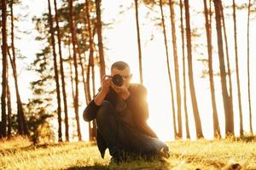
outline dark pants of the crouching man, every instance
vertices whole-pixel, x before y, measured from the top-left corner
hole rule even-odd
[[[135,127],[121,122],[119,112],[106,100],[96,114],[96,123],[113,157],[124,156],[124,152],[148,157],[159,154],[161,149],[168,150],[166,144],[159,139],[140,133]]]

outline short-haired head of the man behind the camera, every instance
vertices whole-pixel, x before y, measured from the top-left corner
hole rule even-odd
[[[123,77],[126,88],[129,88],[132,74],[130,66],[124,61],[116,61],[111,65],[111,76],[119,74]]]

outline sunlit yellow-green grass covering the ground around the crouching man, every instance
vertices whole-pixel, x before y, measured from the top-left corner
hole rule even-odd
[[[170,158],[132,161],[119,165],[110,161],[108,151],[101,158],[96,144],[72,142],[32,145],[17,138],[0,141],[0,169],[256,169],[256,140],[205,140],[166,143]]]

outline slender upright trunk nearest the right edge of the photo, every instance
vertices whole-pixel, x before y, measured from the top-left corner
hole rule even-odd
[[[252,122],[252,104],[251,104],[251,82],[250,82],[250,14],[251,14],[251,0],[248,4],[248,17],[247,17],[247,77],[248,77],[248,103],[249,103],[249,120],[250,120],[250,133],[253,134]]]

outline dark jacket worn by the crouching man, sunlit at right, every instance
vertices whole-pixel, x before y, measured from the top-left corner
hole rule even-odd
[[[148,103],[147,103],[147,89],[141,84],[131,84],[129,87],[130,96],[125,99],[127,107],[131,111],[131,116],[135,127],[139,132],[142,132],[148,136],[157,138],[154,131],[148,127]],[[113,107],[117,104],[117,94],[111,88],[105,98]],[[94,100],[91,100],[89,105],[84,110],[84,121],[90,122],[96,118],[96,113],[100,106],[96,105]],[[97,145],[101,152],[102,158],[104,157],[105,150],[108,148],[106,142],[102,138],[101,133],[97,133]]]

